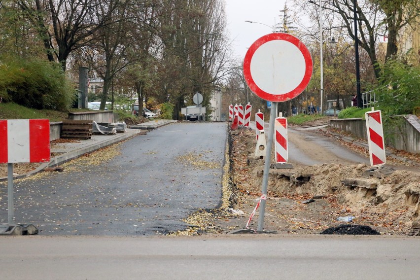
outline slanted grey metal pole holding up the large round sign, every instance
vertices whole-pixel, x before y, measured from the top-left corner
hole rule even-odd
[[[271,147],[273,146],[273,136],[274,136],[274,123],[276,121],[276,112],[277,112],[277,102],[273,102],[270,109],[270,122],[268,125],[268,139],[267,139],[267,153],[265,156],[264,163],[264,174],[261,187],[261,195],[267,196],[267,185],[268,185],[268,175],[270,172],[271,165]],[[263,230],[264,226],[264,212],[265,212],[266,200],[262,199],[260,203],[260,215],[258,217],[258,231]]]

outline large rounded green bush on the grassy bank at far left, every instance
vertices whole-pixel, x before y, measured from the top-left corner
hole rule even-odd
[[[74,89],[59,64],[40,59],[0,57],[0,97],[29,108],[66,110]]]

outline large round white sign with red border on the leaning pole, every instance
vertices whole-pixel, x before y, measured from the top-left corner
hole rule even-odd
[[[301,94],[311,80],[312,70],[307,47],[285,33],[262,36],[245,54],[245,81],[267,101],[284,102]]]

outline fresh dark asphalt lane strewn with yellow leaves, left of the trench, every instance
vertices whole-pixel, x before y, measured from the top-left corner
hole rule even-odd
[[[15,222],[34,224],[39,235],[183,230],[183,218],[221,201],[226,137],[226,123],[171,124],[121,142],[121,154],[98,165],[76,161],[67,167],[74,171],[15,180]],[[7,221],[5,200],[0,221]]]

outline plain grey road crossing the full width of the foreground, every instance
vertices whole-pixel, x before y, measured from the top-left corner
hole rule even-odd
[[[0,279],[417,280],[416,237],[0,238]]]

